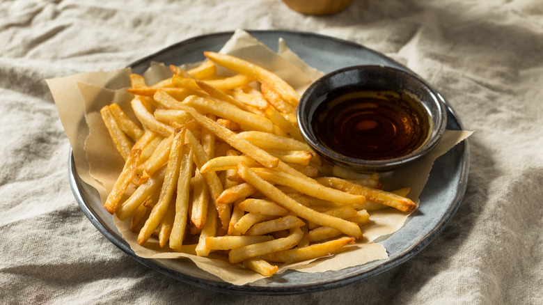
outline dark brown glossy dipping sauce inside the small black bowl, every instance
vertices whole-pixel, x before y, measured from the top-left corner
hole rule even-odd
[[[311,120],[324,146],[347,157],[382,160],[414,152],[431,123],[420,103],[393,92],[355,92],[322,102]]]

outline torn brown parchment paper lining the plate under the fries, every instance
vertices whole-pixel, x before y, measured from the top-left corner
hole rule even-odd
[[[315,79],[322,76],[322,72],[310,68],[304,61],[301,61],[282,39],[279,40],[278,53],[275,53],[250,36],[249,33],[238,30],[220,52],[244,58],[275,72],[288,81],[299,93],[303,93]],[[113,187],[118,173],[123,168],[124,161],[118,155],[107,129],[102,123],[100,109],[104,105],[114,102],[120,104],[120,107],[136,121],[129,105],[133,96],[126,91],[126,88],[130,86],[130,73],[131,70],[125,68],[47,80],[65,133],[72,146],[77,173],[88,185],[97,189],[102,204]],[[228,71],[219,69],[218,73],[226,74]],[[152,63],[144,74],[148,84],[154,84],[169,76],[171,76],[171,72],[162,63]],[[418,196],[430,175],[434,160],[470,134],[471,132],[466,131],[447,130],[439,145],[425,159],[395,171],[393,175],[387,175],[383,181],[386,189],[411,187],[409,198],[418,205]],[[409,181],[409,185],[404,185],[405,181]],[[288,269],[296,269],[299,272],[339,270],[386,259],[388,258],[386,249],[381,244],[372,241],[399,230],[408,216],[409,214],[393,208],[370,212],[372,224],[363,227],[364,238],[350,246],[352,249],[311,262],[280,265],[278,274]],[[188,258],[203,271],[235,285],[244,285],[264,277],[245,269],[241,264],[231,265],[219,256],[214,258],[213,253],[210,257],[178,253],[167,247],[161,249],[155,240],[151,240],[145,244],[145,247],[142,247],[136,242],[137,234],[129,230],[128,220],[120,221],[114,217],[114,221],[136,255],[143,258],[174,259],[171,264],[168,262],[168,266],[178,272],[182,272],[183,262],[175,259]]]

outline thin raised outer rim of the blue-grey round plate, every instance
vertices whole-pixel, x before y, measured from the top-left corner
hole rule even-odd
[[[283,30],[246,30],[249,34],[253,33],[260,33],[260,34],[275,34],[278,36],[281,36],[282,33],[287,33],[288,35],[302,35],[302,36],[313,36],[313,38],[320,38],[324,40],[334,40],[341,44],[348,44],[352,45],[353,47],[364,49],[366,52],[370,52],[376,56],[379,56],[381,58],[384,58],[388,62],[393,62],[397,65],[402,66],[402,68],[405,68],[406,70],[409,70],[409,68],[405,67],[401,63],[398,63],[397,61],[394,61],[392,58],[389,58],[388,56],[385,56],[384,54],[381,54],[375,50],[369,49],[368,47],[365,47],[359,43],[352,42],[349,40],[343,40],[341,38],[335,38],[331,36],[326,36],[320,33],[313,33],[308,31],[283,31]],[[200,36],[194,36],[185,40],[181,40],[180,42],[176,42],[173,45],[170,45],[168,47],[165,47],[164,49],[161,49],[157,52],[154,52],[148,56],[145,56],[143,58],[140,58],[136,61],[133,61],[128,65],[128,67],[134,67],[135,65],[141,65],[145,63],[146,61],[150,62],[152,61],[152,58],[159,56],[160,54],[163,54],[164,52],[168,52],[172,49],[181,47],[183,45],[189,45],[192,42],[196,42],[196,40],[203,40],[203,39],[210,39],[217,36],[232,36],[233,31],[221,31],[221,32],[214,32],[214,33],[207,33]],[[413,71],[409,70],[411,73],[414,73]],[[415,73],[414,73],[415,74]],[[416,74],[415,74],[416,75]],[[418,75],[417,75],[418,76]],[[447,100],[439,93],[439,91],[435,91],[438,93],[439,98],[446,104],[448,112],[450,112],[450,115],[453,116],[455,119],[457,125],[459,126],[459,130],[464,130],[464,127],[462,125],[461,120],[457,116],[455,110],[451,105],[447,102]],[[393,269],[393,267],[397,267],[398,265],[401,265],[405,261],[409,260],[413,256],[415,256],[417,253],[419,253],[422,249],[427,247],[428,244],[430,244],[436,237],[443,231],[444,228],[446,228],[448,222],[450,219],[452,219],[459,208],[460,203],[462,203],[462,198],[464,197],[466,186],[467,186],[467,178],[469,173],[469,164],[470,164],[470,154],[469,154],[469,141],[466,139],[462,143],[459,143],[458,145],[464,145],[464,152],[462,155],[462,170],[460,171],[460,180],[459,180],[459,188],[457,193],[455,194],[455,198],[453,202],[450,204],[448,209],[446,210],[446,214],[444,214],[441,219],[439,219],[439,222],[436,224],[436,226],[430,230],[426,235],[423,237],[420,237],[418,242],[414,244],[409,249],[403,251],[400,255],[395,256],[394,258],[388,258],[384,263],[375,265],[371,267],[370,269],[366,269],[364,272],[359,274],[353,274],[351,276],[346,276],[341,279],[334,279],[332,281],[326,281],[325,283],[321,284],[307,284],[306,286],[288,286],[288,287],[282,287],[282,286],[253,286],[250,283],[243,286],[237,286],[231,283],[227,283],[224,281],[212,281],[209,279],[201,279],[196,276],[191,276],[189,274],[183,274],[181,272],[177,272],[172,269],[168,269],[162,265],[159,265],[155,263],[154,259],[148,259],[148,258],[141,258],[139,256],[136,256],[134,251],[130,249],[129,245],[125,240],[118,240],[113,234],[109,232],[109,230],[102,224],[100,219],[98,219],[97,215],[95,215],[90,208],[86,205],[84,198],[82,196],[81,191],[81,185],[80,183],[82,181],[78,181],[77,176],[77,169],[75,169],[74,159],[73,159],[73,152],[72,147],[70,146],[69,150],[69,157],[68,157],[68,175],[70,179],[70,187],[72,188],[72,192],[74,194],[74,197],[81,208],[81,210],[84,212],[86,217],[91,221],[91,223],[97,228],[97,230],[102,233],[107,239],[115,244],[119,249],[123,250],[125,253],[127,253],[129,256],[132,256],[132,258],[136,259],[139,263],[142,265],[145,265],[146,267],[149,267],[150,269],[154,269],[157,272],[160,272],[162,274],[165,274],[166,276],[173,277],[174,279],[177,279],[179,281],[182,281],[184,283],[188,283],[194,286],[198,286],[200,288],[204,289],[212,289],[212,290],[218,290],[220,292],[226,292],[230,294],[242,294],[242,295],[297,295],[297,294],[303,294],[303,293],[310,293],[310,292],[318,292],[323,290],[329,290],[333,288],[340,288],[343,286],[347,286],[349,284],[355,283],[357,281],[362,281],[365,279],[370,279],[372,276],[376,276],[377,274],[381,274],[383,272],[387,272],[390,269]]]

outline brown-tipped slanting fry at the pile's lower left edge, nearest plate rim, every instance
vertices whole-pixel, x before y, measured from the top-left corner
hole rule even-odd
[[[113,185],[113,189],[111,189],[111,191],[109,192],[106,202],[104,203],[104,208],[110,214],[115,213],[115,211],[117,210],[120,199],[123,198],[126,189],[130,185],[132,178],[136,174],[138,158],[140,154],[141,150],[139,149],[134,149],[130,151],[128,158],[125,162],[125,166],[123,167],[123,171],[120,172],[120,175],[118,176],[115,184]]]

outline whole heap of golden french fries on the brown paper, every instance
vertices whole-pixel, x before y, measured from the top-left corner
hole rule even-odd
[[[101,109],[123,171],[104,203],[145,247],[228,256],[264,276],[278,263],[331,256],[363,237],[373,210],[411,212],[408,188],[333,166],[297,126],[299,94],[269,70],[205,52],[207,61],[149,86],[130,76],[134,122]],[[217,76],[217,65],[233,76]],[[124,198],[124,199],[123,199]],[[274,265],[275,264],[275,265]]]

